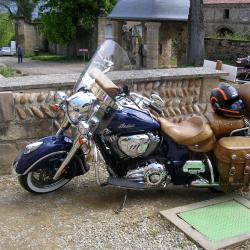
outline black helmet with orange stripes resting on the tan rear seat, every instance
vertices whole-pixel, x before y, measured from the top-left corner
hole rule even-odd
[[[210,102],[218,114],[234,118],[239,118],[243,114],[244,104],[239,98],[238,91],[226,83],[220,83],[212,90]]]

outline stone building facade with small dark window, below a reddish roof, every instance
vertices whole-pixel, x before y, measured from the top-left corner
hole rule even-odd
[[[204,0],[206,36],[250,32],[250,0]]]

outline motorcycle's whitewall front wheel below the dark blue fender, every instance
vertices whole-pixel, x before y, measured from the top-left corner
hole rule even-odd
[[[24,189],[31,193],[45,194],[63,187],[70,181],[70,179],[65,177],[53,180],[54,174],[54,171],[50,169],[38,169],[19,176],[18,181]]]

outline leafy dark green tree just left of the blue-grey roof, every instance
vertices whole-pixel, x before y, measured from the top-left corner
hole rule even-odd
[[[48,41],[67,45],[69,48],[80,32],[94,34],[97,17],[107,14],[115,2],[116,0],[42,0],[39,11],[41,32]]]

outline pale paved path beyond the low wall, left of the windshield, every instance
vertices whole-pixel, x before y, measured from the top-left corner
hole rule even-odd
[[[45,62],[29,58],[24,58],[23,63],[18,63],[16,57],[0,57],[0,63],[28,75],[80,73],[84,67],[83,62]]]

